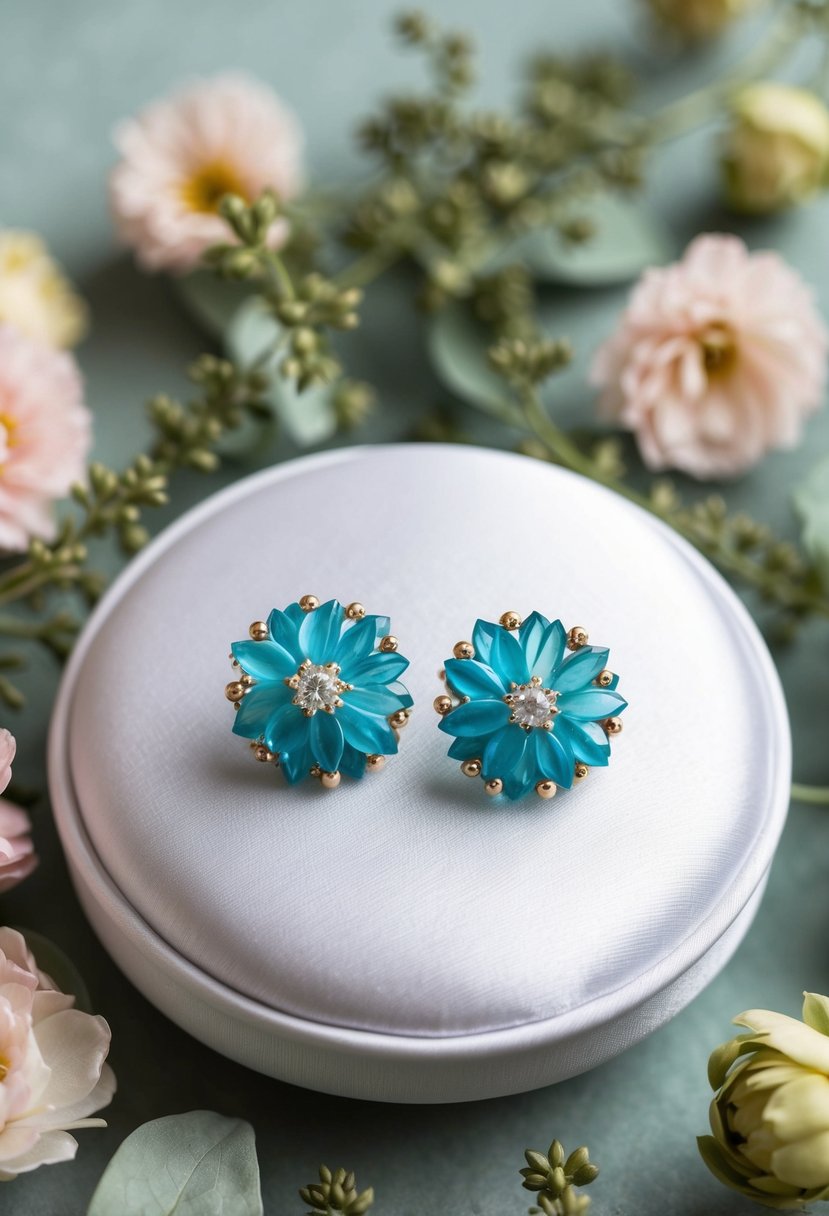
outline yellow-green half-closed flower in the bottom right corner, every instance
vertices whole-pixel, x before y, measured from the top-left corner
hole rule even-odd
[[[829,997],[807,992],[803,1020],[750,1009],[748,1026],[709,1062],[717,1091],[703,1160],[726,1186],[767,1207],[829,1199]],[[743,1057],[746,1057],[745,1059]]]

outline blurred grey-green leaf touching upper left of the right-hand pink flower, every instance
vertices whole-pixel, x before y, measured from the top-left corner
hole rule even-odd
[[[536,278],[551,283],[609,287],[672,257],[672,242],[638,202],[596,195],[573,214],[594,226],[587,241],[565,241],[557,231],[538,229],[507,246],[497,264],[523,261]]]

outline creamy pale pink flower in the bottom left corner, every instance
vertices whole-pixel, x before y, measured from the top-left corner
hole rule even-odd
[[[38,970],[22,935],[0,929],[0,1180],[68,1161],[69,1131],[103,1127],[90,1119],[115,1092],[105,1063],[109,1028],[74,1009]]]

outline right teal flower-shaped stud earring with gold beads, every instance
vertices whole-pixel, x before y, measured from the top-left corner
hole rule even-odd
[[[608,659],[580,625],[568,632],[537,612],[524,621],[514,612],[497,625],[478,620],[472,642],[458,642],[440,672],[446,693],[434,706],[439,728],[455,736],[449,755],[494,796],[570,789],[608,764],[622,728],[627,702]]]

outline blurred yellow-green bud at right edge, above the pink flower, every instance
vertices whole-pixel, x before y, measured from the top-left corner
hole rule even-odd
[[[829,109],[807,89],[766,80],[733,103],[723,169],[732,207],[757,214],[802,203],[827,182]]]

